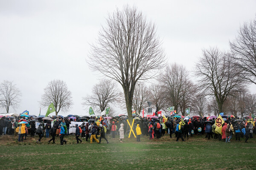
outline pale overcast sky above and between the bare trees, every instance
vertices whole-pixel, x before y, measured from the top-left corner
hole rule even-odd
[[[20,107],[10,112],[38,115],[44,88],[61,79],[73,96],[69,113],[88,114],[81,99],[99,81],[85,61],[89,43],[105,26],[108,12],[126,4],[156,23],[169,62],[189,71],[202,48],[229,50],[240,24],[256,17],[255,0],[0,0],[0,82],[13,81],[22,92]]]

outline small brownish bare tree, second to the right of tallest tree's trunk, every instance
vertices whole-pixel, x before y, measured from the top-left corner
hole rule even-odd
[[[151,84],[150,86],[150,100],[152,101],[152,105],[156,107],[155,113],[157,111],[163,110],[166,111],[167,109],[167,100],[164,91],[164,87],[160,84]]]

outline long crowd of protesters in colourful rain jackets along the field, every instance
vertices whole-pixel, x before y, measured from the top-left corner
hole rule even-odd
[[[86,119],[68,119],[67,117],[52,116],[51,120],[35,119],[34,117],[25,118],[24,116],[15,116],[14,119],[3,116],[0,119],[0,135],[14,135],[18,136],[18,142],[23,142],[28,136],[31,138],[38,135],[37,143],[41,142],[43,137],[47,138],[50,142],[55,143],[55,137],[60,138],[60,143],[63,145],[67,143],[64,139],[65,136],[69,136],[69,129],[71,121],[82,122],[81,125],[76,124],[76,132],[73,134],[76,136],[76,142],[90,141],[90,143],[101,143],[102,139],[105,139],[107,143],[108,139],[106,135],[111,135],[115,138],[119,135],[120,142],[123,142],[125,132],[130,130],[130,126],[127,123],[127,117],[115,116],[113,119],[107,119],[104,117],[91,116]],[[168,135],[170,138],[176,138],[178,142],[180,139],[185,142],[189,137],[193,135],[206,135],[207,139],[218,139],[224,142],[230,142],[230,139],[235,136],[236,142],[240,142],[244,138],[245,142],[249,138],[253,138],[253,133],[256,134],[255,119],[239,119],[239,117],[230,117],[225,119],[225,123],[222,125],[221,133],[218,133],[215,128],[215,118],[202,118],[199,116],[183,119],[177,117],[161,116],[159,118],[152,117],[137,117],[134,120],[133,130],[137,136],[137,142],[140,142],[140,136],[149,136],[148,139],[160,139],[164,135]],[[26,123],[19,124],[20,121]],[[41,122],[38,128],[35,126],[35,122]],[[79,136],[81,135],[81,139]],[[99,138],[99,139],[98,139]]]

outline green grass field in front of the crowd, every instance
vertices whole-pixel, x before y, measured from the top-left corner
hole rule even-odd
[[[17,137],[0,137],[0,169],[256,169],[256,140],[249,139],[249,143],[220,142],[216,139],[209,141],[204,136],[194,136],[186,142],[175,142],[169,136],[161,139],[149,140],[141,137],[124,139],[119,142],[119,136],[112,139],[107,136],[109,144],[76,144],[75,136],[68,136],[67,144],[60,145],[56,137],[56,144],[48,144],[43,138],[41,144],[35,139],[17,142]]]

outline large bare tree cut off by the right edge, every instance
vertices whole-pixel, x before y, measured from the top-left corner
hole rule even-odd
[[[240,27],[238,37],[230,42],[231,51],[235,54],[234,63],[246,81],[256,84],[256,19]]]

